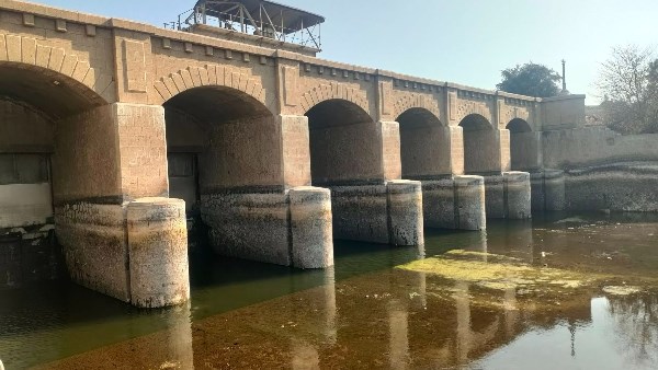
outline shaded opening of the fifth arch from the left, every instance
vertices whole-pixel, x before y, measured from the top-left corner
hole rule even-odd
[[[481,115],[470,114],[460,126],[464,129],[464,171],[467,174],[500,172],[500,142],[491,123]]]

